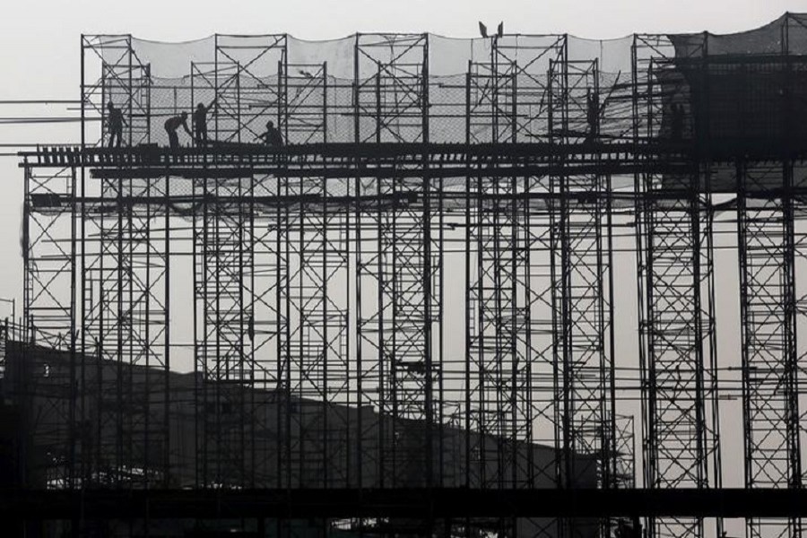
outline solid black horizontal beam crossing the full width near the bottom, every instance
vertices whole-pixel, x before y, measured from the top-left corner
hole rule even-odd
[[[151,517],[807,516],[807,490],[3,490],[7,520]]]

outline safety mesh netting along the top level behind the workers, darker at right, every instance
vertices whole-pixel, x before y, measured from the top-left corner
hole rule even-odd
[[[216,143],[260,143],[270,121],[293,144],[582,143],[590,96],[604,142],[638,135],[719,152],[798,146],[807,134],[807,18],[792,13],[731,35],[117,36],[91,49],[102,68],[85,101],[102,122],[105,103],[124,109],[131,145],[167,145],[165,121],[183,112],[194,130],[199,103],[213,104]]]

